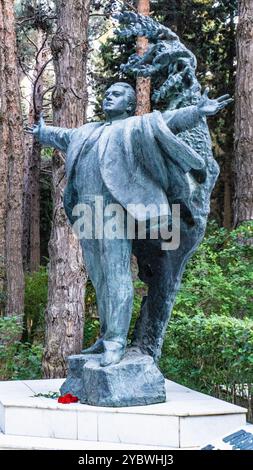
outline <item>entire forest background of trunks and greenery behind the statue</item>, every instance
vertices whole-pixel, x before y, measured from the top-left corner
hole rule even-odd
[[[205,240],[189,262],[160,367],[166,377],[249,407],[253,395],[253,5],[251,0],[0,0],[0,379],[63,377],[99,333],[94,289],[62,207],[64,156],[24,132],[101,120],[106,87],[127,80],[138,112],[148,80],[120,64],[133,39],[112,13],[151,14],[196,55],[197,77],[234,104],[209,120],[220,177]],[[139,41],[137,50],[145,48]],[[145,286],[135,280],[135,321]],[[131,335],[131,331],[130,331]]]

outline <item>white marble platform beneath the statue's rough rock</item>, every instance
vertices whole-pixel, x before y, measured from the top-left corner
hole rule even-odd
[[[62,405],[57,400],[34,397],[37,393],[58,391],[62,383],[63,379],[0,382],[2,433],[92,441],[100,443],[100,448],[111,442],[142,448],[189,449],[246,424],[246,409],[171,381],[166,381],[166,403],[141,407]]]

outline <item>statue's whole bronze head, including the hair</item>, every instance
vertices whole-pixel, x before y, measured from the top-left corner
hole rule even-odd
[[[136,94],[131,85],[118,82],[105,92],[103,110],[109,119],[118,116],[133,116],[136,108]]]

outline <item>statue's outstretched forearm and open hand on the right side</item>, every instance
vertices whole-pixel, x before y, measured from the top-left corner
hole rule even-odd
[[[203,117],[214,116],[233,101],[229,95],[210,100],[208,92],[209,89],[206,88],[196,106],[187,106],[186,108],[163,113],[167,125],[174,134],[196,127]]]

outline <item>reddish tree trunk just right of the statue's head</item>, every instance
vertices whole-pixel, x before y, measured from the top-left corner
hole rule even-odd
[[[138,0],[138,13],[148,16],[150,14],[150,0]],[[144,55],[148,48],[148,39],[139,37],[137,39],[137,54]],[[136,115],[141,116],[150,113],[150,78],[138,77],[136,82],[137,108]]]

